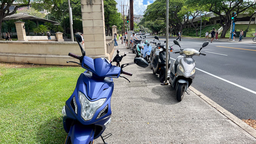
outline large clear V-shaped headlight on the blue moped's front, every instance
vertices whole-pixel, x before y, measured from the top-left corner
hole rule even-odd
[[[86,96],[79,91],[79,102],[81,104],[81,117],[88,121],[92,119],[92,117],[95,115],[95,112],[100,108],[104,102],[106,101],[106,98],[99,99],[97,101],[89,101]]]

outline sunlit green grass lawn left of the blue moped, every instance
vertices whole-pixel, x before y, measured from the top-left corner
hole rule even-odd
[[[81,67],[6,67],[0,63],[0,143],[63,144],[61,110]]]

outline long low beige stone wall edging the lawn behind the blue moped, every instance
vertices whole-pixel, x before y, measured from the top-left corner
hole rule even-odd
[[[77,65],[67,63],[67,61],[79,62],[68,56],[69,53],[81,55],[77,42],[0,41],[0,62]],[[93,55],[87,56],[96,58]]]

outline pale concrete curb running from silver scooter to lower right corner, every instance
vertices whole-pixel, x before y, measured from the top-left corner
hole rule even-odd
[[[200,91],[196,90],[194,87],[190,86],[189,89],[193,91],[195,94],[197,94],[200,98],[202,98],[204,101],[206,101],[209,105],[214,107],[216,110],[220,111],[223,115],[225,115],[228,119],[230,119],[232,122],[237,124],[240,128],[245,130],[247,133],[249,133],[251,136],[256,138],[256,130],[253,129],[250,125],[246,124],[243,122],[241,119],[237,118],[235,115],[227,111],[225,108],[221,107],[219,104],[216,102],[212,101],[210,98],[205,96],[203,93]]]

